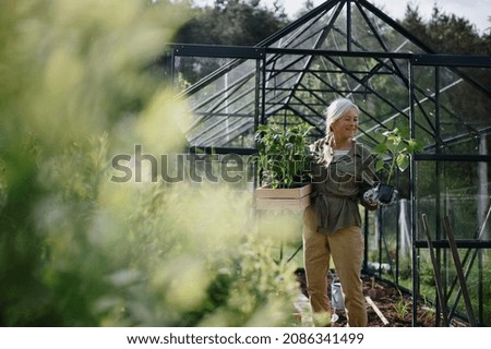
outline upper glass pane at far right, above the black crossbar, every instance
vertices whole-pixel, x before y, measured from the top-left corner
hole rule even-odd
[[[427,153],[440,143],[443,154],[489,154],[491,69],[416,67],[415,82],[416,137]]]

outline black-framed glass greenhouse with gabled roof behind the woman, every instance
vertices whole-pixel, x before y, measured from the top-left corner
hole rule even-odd
[[[369,147],[384,130],[416,140],[396,176],[400,200],[364,213],[363,272],[428,300],[445,314],[438,326],[491,325],[489,57],[435,52],[366,0],[325,1],[253,47],[175,44],[167,55],[192,108],[191,153],[253,157],[266,123],[323,137],[340,96],[359,106]]]

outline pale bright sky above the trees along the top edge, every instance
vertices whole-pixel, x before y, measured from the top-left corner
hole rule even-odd
[[[279,0],[282,1],[282,0]],[[313,0],[314,7],[323,3],[325,0]],[[488,20],[491,16],[491,0],[369,0],[373,4],[383,9],[384,12],[393,19],[404,17],[406,4],[408,2],[418,5],[419,13],[423,20],[431,16],[433,4],[436,3],[439,9],[448,14],[456,14],[463,16],[476,28],[480,34],[491,33],[491,22]],[[213,3],[213,0],[197,0],[196,3]],[[274,0],[261,0],[266,5],[272,5]],[[285,11],[289,17],[294,19],[295,14],[302,8],[304,0],[283,0]]]

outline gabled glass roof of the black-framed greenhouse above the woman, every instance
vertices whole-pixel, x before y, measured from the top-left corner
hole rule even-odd
[[[322,137],[324,110],[342,96],[359,106],[369,145],[374,131],[397,127],[430,153],[468,154],[476,147],[459,144],[491,127],[490,59],[436,55],[367,0],[325,1],[254,47],[171,48],[175,77],[188,69],[195,81],[181,94],[194,118],[190,146],[253,152],[267,122],[307,122]]]

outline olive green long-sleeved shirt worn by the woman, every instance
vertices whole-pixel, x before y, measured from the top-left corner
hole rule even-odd
[[[374,157],[363,145],[355,142],[348,154],[334,156],[331,164],[326,165],[324,147],[330,147],[325,139],[311,146],[311,198],[318,231],[328,234],[346,227],[361,227],[358,204],[369,209],[376,208],[362,200],[363,193],[375,182]]]

